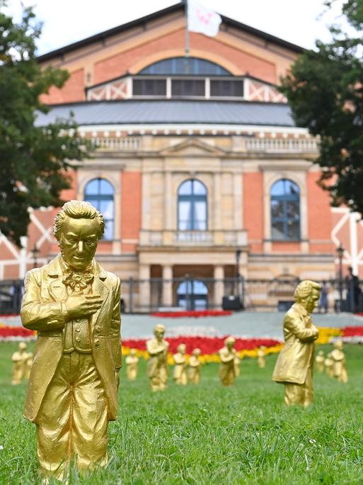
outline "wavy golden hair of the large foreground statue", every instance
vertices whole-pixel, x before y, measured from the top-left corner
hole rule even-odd
[[[54,218],[53,232],[57,240],[59,240],[62,235],[66,216],[73,219],[97,219],[98,239],[103,237],[103,233],[105,232],[105,220],[100,211],[98,211],[96,207],[93,207],[89,202],[69,201],[64,204],[62,210],[59,211]]]

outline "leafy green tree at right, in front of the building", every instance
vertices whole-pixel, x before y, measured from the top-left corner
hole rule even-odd
[[[316,41],[316,50],[304,52],[281,91],[296,125],[319,137],[318,184],[330,192],[332,205],[363,213],[363,0],[346,0],[342,14],[354,35],[331,26],[330,43]]]

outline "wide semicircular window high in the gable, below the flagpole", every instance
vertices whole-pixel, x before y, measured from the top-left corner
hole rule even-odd
[[[144,67],[139,74],[191,74],[192,76],[230,76],[231,73],[214,62],[199,57],[171,57]]]

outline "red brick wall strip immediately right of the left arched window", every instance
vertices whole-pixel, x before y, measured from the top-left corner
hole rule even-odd
[[[121,238],[139,239],[142,214],[142,174],[122,172],[121,174]],[[134,252],[136,244],[122,244],[122,251]]]

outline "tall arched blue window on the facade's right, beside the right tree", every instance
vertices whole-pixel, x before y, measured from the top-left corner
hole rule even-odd
[[[300,239],[300,190],[289,179],[271,187],[271,237],[273,240]]]

